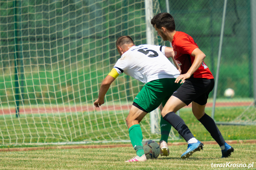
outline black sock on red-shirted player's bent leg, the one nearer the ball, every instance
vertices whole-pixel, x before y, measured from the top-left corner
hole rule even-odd
[[[174,127],[174,129],[176,129],[178,133],[186,140],[186,142],[194,137],[183,119],[173,111],[167,113],[163,119],[169,122]]]

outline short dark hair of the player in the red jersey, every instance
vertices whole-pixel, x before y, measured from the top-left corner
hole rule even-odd
[[[174,18],[171,16],[171,14],[167,12],[156,14],[151,19],[151,24],[153,25],[153,27],[155,25],[159,30],[161,29],[161,27],[166,27],[166,29],[169,31],[175,30]]]

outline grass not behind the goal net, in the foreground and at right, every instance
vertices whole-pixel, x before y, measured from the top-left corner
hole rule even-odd
[[[216,108],[215,119],[216,121],[233,120],[245,108]],[[206,108],[206,113],[210,112],[211,108]],[[195,119],[190,108],[182,109],[180,115],[198,140],[202,142],[213,140],[200,122]],[[147,122],[142,122],[142,124],[145,123]],[[256,139],[255,126],[218,125],[218,127],[225,140]],[[174,133],[178,135],[175,130]],[[93,135],[91,134],[91,137]],[[184,142],[183,139],[180,139],[169,141],[169,143],[178,141]],[[0,152],[0,169],[223,169],[215,168],[214,163],[219,163],[220,166],[220,164],[229,162],[230,164],[246,164],[246,166],[249,164],[252,166],[252,163],[254,163],[254,166],[250,169],[256,169],[256,144],[244,143],[232,144],[232,146],[235,151],[230,158],[221,158],[218,145],[206,144],[203,151],[196,152],[190,158],[183,160],[180,156],[187,149],[187,145],[171,145],[169,146],[171,151],[169,157],[159,157],[154,160],[136,163],[124,162],[135,156],[132,147]],[[14,146],[2,145],[1,147]],[[248,169],[248,167],[233,168],[231,166],[228,169]]]

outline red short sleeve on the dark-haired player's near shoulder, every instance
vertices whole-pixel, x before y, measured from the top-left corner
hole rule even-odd
[[[198,48],[194,40],[189,37],[182,37],[175,43],[175,47],[179,49],[182,54],[189,54],[194,51],[195,48]]]

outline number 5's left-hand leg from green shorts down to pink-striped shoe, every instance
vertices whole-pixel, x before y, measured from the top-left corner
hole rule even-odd
[[[142,132],[139,122],[143,117],[150,111],[155,110],[163,100],[161,89],[162,81],[164,80],[153,80],[144,85],[139,94],[134,98],[131,110],[126,118],[126,123],[129,129],[129,135],[133,148],[136,150],[136,158],[129,160],[131,161],[144,161],[145,155],[142,145]],[[146,159],[145,159],[146,160]]]

